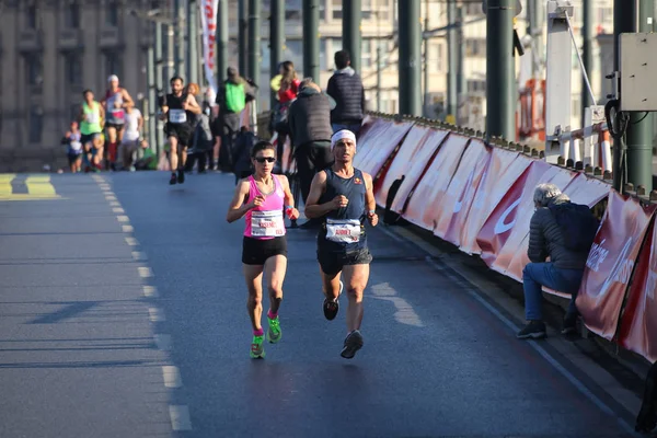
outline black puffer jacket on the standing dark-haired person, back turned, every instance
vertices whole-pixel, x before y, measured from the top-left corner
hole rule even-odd
[[[335,101],[331,111],[333,124],[360,124],[365,113],[365,88],[356,71],[347,67],[328,79],[326,94]]]

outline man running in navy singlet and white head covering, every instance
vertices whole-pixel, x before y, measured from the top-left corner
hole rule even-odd
[[[376,227],[379,217],[372,191],[372,177],[354,168],[356,136],[350,130],[338,130],[331,137],[335,162],[312,180],[306,216],[321,218],[318,233],[318,261],[325,293],[324,316],[331,321],[337,315],[338,296],[344,274],[347,285],[347,337],[341,356],[351,359],[362,347],[362,292],[369,278],[372,261],[367,246],[365,220]]]

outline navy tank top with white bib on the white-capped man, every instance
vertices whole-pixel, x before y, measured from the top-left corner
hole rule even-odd
[[[325,204],[338,195],[349,199],[347,207],[330,211],[323,218],[322,229],[318,234],[318,244],[330,251],[357,251],[367,246],[365,232],[366,205],[365,178],[362,172],[354,169],[354,176],[343,178],[332,168],[326,172],[326,191],[320,197]]]

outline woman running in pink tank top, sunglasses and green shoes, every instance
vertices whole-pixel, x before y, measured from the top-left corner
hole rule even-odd
[[[274,175],[276,148],[268,141],[258,141],[251,152],[255,173],[241,180],[228,208],[226,220],[234,222],[246,217],[242,243],[242,266],[249,289],[247,309],[253,328],[251,357],[264,358],[264,331],[261,325],[263,314],[263,274],[269,291],[267,320],[268,341],[280,341],[281,331],[278,309],[283,301],[283,281],[287,268],[287,240],[285,212],[290,219],[299,217],[288,180]]]

